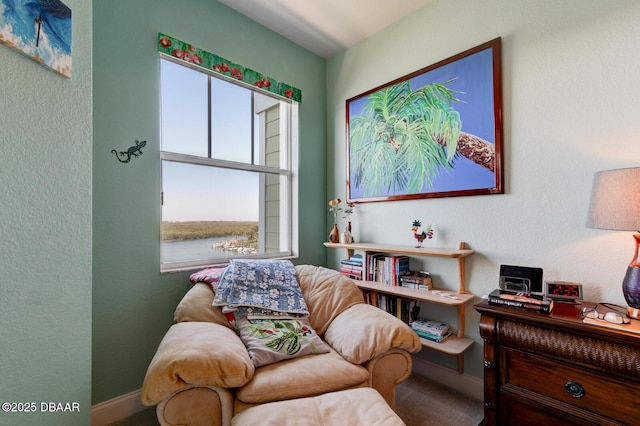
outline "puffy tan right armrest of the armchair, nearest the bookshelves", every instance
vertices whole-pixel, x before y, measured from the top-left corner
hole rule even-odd
[[[416,333],[398,318],[360,303],[338,315],[324,335],[347,361],[363,364],[391,349],[414,353],[422,349]]]

